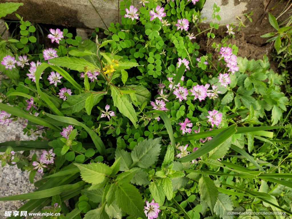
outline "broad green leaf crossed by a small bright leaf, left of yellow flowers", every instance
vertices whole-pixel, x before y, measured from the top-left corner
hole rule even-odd
[[[75,112],[80,112],[86,105],[86,100],[88,97],[93,97],[93,106],[98,104],[101,100],[102,96],[105,95],[106,92],[98,92],[98,93],[81,93],[79,95],[71,95],[67,97],[62,104],[62,112],[67,115],[72,115]]]

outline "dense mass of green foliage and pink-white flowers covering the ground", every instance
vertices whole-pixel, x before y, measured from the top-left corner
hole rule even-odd
[[[120,23],[84,41],[50,29],[50,47],[36,37],[39,26],[15,14],[19,34],[0,41],[0,124],[22,117],[25,134],[42,133],[0,143],[0,158],[29,171],[38,189],[0,201],[29,200],[18,211],[66,219],[292,215],[285,74],[266,55],[237,57],[226,43],[232,24],[220,25],[217,55],[204,54],[195,39],[208,32],[211,43],[221,18],[214,4],[214,22],[201,31],[203,4],[142,0],[137,9],[124,0]],[[21,5],[1,4],[0,16]],[[29,158],[35,149],[43,154]],[[36,172],[43,179],[34,182]]]

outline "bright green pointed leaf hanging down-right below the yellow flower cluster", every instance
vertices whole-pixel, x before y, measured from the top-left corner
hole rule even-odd
[[[121,114],[128,117],[134,126],[136,126],[136,122],[138,122],[136,111],[133,105],[129,102],[128,97],[126,95],[121,95],[119,89],[115,86],[111,86],[111,91],[114,106],[119,109]]]

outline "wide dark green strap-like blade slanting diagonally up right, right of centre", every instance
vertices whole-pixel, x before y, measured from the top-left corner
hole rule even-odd
[[[200,147],[198,150],[190,153],[189,155],[177,159],[177,161],[180,161],[182,163],[189,162],[194,159],[197,159],[198,157],[203,156],[204,154],[207,154],[211,150],[215,149],[219,145],[221,145],[223,142],[225,142],[228,138],[230,138],[231,135],[236,133],[236,124],[233,124],[229,126],[224,131],[220,132],[218,135],[216,135],[214,138],[212,138],[210,141],[205,143],[202,147]],[[220,129],[219,129],[220,130]]]

